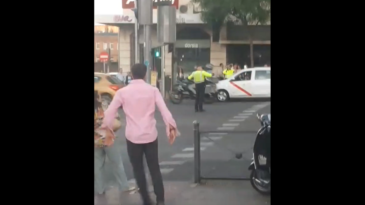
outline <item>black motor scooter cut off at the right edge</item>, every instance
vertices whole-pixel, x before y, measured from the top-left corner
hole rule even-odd
[[[249,170],[251,170],[251,185],[261,194],[270,194],[271,192],[270,116],[271,114],[261,116],[257,114],[257,118],[261,123],[261,129],[257,132],[255,144],[253,146],[253,159],[249,166]]]

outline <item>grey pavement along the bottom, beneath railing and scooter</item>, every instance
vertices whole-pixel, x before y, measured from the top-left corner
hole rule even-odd
[[[208,181],[200,185],[189,182],[164,182],[166,205],[270,205],[270,196],[257,193],[249,181]],[[154,200],[154,193],[151,192]],[[111,188],[103,202],[95,205],[141,205],[138,193],[123,193],[118,196],[117,188]],[[120,200],[119,200],[120,198]]]

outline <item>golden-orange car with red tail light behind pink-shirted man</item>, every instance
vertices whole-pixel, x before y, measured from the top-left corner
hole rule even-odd
[[[123,86],[123,82],[114,76],[94,73],[94,91],[96,90],[101,96],[101,103],[103,105],[109,105],[116,91],[123,88]]]

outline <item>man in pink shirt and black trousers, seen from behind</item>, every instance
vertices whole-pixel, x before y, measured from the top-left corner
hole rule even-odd
[[[128,156],[133,167],[134,177],[140,189],[143,205],[151,205],[147,192],[145,170],[143,169],[143,154],[146,156],[147,166],[151,173],[153,189],[156,194],[157,205],[164,205],[164,185],[158,162],[158,142],[156,120],[154,119],[155,105],[161,112],[166,124],[166,134],[172,144],[176,138],[176,122],[166,107],[160,91],[147,84],[147,67],[141,63],[131,68],[132,81],[128,86],[118,90],[104,112],[102,127],[109,128],[107,138],[114,138],[112,132],[114,117],[118,108],[122,107],[126,114],[126,141]]]

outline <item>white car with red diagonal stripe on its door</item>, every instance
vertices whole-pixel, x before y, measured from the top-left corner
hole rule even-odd
[[[217,83],[218,101],[230,98],[271,97],[271,67],[243,69]]]

